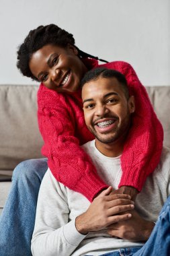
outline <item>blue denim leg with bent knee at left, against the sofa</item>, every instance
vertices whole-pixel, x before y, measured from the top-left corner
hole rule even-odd
[[[26,160],[13,171],[12,185],[0,216],[0,256],[30,256],[40,183],[46,159]]]

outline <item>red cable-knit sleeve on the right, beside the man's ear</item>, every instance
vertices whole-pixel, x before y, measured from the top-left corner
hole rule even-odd
[[[157,119],[146,89],[128,63],[115,62],[115,69],[122,72],[128,82],[130,95],[134,95],[136,110],[132,127],[124,145],[121,158],[122,179],[119,187],[132,186],[140,191],[161,158],[163,127]]]

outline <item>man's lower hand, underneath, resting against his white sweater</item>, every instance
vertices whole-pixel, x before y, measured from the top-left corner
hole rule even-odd
[[[132,218],[129,220],[110,225],[108,234],[133,242],[148,240],[155,224],[144,220],[134,210],[131,213]]]

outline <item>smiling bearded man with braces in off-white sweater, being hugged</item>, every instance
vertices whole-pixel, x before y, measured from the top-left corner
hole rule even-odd
[[[152,255],[153,249],[148,253],[151,239],[148,245],[144,242],[170,193],[169,151],[163,149],[159,166],[136,199],[135,210],[128,195],[112,195],[112,188],[118,188],[122,175],[120,158],[133,125],[134,96],[128,94],[124,75],[114,70],[91,70],[81,84],[85,123],[95,135],[95,140],[86,143],[83,149],[91,156],[101,179],[112,187],[101,192],[90,205],[83,195],[56,181],[48,170],[38,197],[32,253]],[[167,255],[165,249],[163,255]]]

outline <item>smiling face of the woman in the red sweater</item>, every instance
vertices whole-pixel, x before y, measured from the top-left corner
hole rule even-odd
[[[77,55],[77,49],[70,44],[66,48],[47,44],[32,55],[30,70],[49,89],[75,92],[87,71]]]

